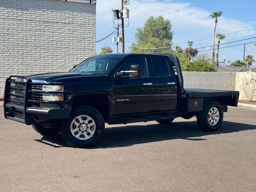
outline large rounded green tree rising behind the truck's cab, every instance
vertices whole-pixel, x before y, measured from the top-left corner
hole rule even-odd
[[[146,20],[143,28],[137,28],[135,34],[135,42],[130,48],[131,52],[169,52],[172,45],[172,24],[170,20],[164,19],[163,16],[150,16]],[[159,48],[160,49],[144,49],[144,48]]]

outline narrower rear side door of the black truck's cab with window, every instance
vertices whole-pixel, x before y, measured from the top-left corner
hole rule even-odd
[[[175,110],[177,105],[177,81],[167,56],[150,56],[153,78],[152,92],[155,110]]]

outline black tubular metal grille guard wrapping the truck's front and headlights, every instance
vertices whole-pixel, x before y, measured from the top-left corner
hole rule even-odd
[[[14,78],[19,78],[20,80],[23,81],[15,81]],[[11,83],[16,83],[16,84],[22,84],[25,85],[25,89],[24,88],[14,88],[11,87]],[[32,90],[32,85],[43,85],[43,84],[47,84],[47,85],[63,85],[64,86],[64,91],[60,92],[60,91],[42,91],[42,90]],[[24,95],[20,95],[20,94],[16,94],[16,92],[14,94],[10,93],[10,89],[22,89],[24,90]],[[47,94],[64,94],[64,98],[67,98],[66,100],[63,101],[43,101],[43,100],[36,100],[36,99],[32,99],[32,94],[39,94],[42,95],[43,93],[47,93]],[[66,97],[65,97],[66,95]],[[52,83],[52,82],[32,82],[32,80],[28,80],[25,76],[10,76],[9,78],[6,79],[6,84],[5,84],[5,89],[4,89],[4,117],[5,118],[15,118],[13,115],[13,110],[12,108],[6,108],[6,103],[14,103],[14,104],[18,104],[20,107],[23,106],[23,118],[24,120],[20,119],[20,121],[24,122],[25,124],[32,124],[34,122],[34,120],[32,119],[32,117],[30,116],[30,114],[28,114],[26,112],[26,108],[31,107],[33,105],[33,103],[54,103],[54,104],[62,104],[62,103],[67,103],[71,100],[72,98],[72,91],[70,89],[70,87],[67,84],[64,83]],[[23,97],[23,101],[20,100],[12,100],[11,96],[13,96],[14,98],[16,97]]]

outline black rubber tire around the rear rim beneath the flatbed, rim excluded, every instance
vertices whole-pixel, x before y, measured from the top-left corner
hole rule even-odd
[[[212,108],[217,108],[219,112],[219,120],[216,125],[211,125],[210,122],[208,121],[208,113]],[[198,126],[202,130],[207,132],[217,131],[223,122],[223,110],[222,110],[221,104],[217,101],[211,101],[206,103],[204,110],[198,113],[198,115],[196,116],[196,119],[197,119]]]

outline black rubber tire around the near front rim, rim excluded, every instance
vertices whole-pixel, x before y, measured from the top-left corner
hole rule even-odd
[[[78,138],[72,135],[72,132],[70,130],[72,121],[80,115],[90,116],[90,118],[94,120],[96,125],[94,134],[86,140],[79,140]],[[98,110],[88,105],[82,105],[82,106],[76,107],[71,113],[70,118],[63,120],[61,124],[62,137],[70,146],[76,147],[76,148],[93,146],[102,138],[104,134],[104,130],[105,130],[105,122],[102,115]]]

